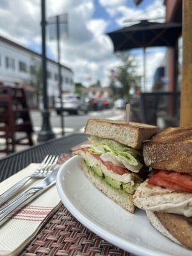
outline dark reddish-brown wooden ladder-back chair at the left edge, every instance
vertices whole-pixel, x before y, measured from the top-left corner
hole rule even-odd
[[[0,152],[10,154],[15,152],[15,145],[33,145],[33,127],[23,89],[0,88],[0,132],[0,138],[6,141]]]

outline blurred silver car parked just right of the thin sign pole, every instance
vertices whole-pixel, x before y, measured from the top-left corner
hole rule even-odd
[[[88,102],[77,94],[65,94],[62,97],[63,108],[61,108],[60,98],[55,99],[55,109],[58,115],[62,111],[67,111],[69,114],[78,115],[79,113],[88,113]]]

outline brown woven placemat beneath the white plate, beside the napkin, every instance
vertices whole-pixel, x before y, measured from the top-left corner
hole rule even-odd
[[[100,238],[64,205],[45,223],[22,256],[134,256]]]

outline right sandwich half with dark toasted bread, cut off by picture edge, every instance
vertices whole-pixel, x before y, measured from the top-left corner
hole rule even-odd
[[[134,205],[175,243],[192,249],[192,127],[168,128],[144,143],[152,176],[134,193]]]

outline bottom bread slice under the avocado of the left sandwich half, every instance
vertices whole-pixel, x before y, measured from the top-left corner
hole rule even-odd
[[[97,175],[88,172],[86,164],[84,164],[84,162],[82,162],[82,170],[97,189],[102,191],[102,193],[111,198],[114,202],[116,202],[116,204],[120,205],[125,210],[134,213],[134,204],[132,202],[131,194],[125,192],[120,193],[118,189],[112,188],[106,182],[104,182],[104,180],[97,177]]]

